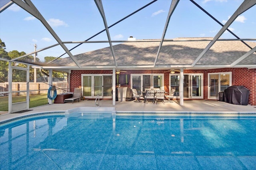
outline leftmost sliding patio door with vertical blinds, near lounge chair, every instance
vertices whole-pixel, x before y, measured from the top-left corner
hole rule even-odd
[[[112,98],[112,75],[82,74],[85,98]]]

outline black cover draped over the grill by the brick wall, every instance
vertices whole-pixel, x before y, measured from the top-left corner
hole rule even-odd
[[[244,86],[230,86],[224,90],[226,102],[237,105],[248,105],[250,91]]]

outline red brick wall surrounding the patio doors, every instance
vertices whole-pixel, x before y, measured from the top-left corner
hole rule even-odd
[[[120,74],[148,74],[164,73],[167,70],[125,70]],[[208,70],[184,70],[186,73],[203,73],[204,74],[204,99],[208,98],[208,73],[232,72],[232,86],[244,86],[250,90],[249,104],[256,106],[256,68],[214,68]],[[112,70],[71,70],[70,73],[70,91],[73,92],[75,87],[81,86],[81,74],[112,74]],[[130,79],[127,85],[130,87]],[[169,91],[169,72],[164,73],[164,90]]]

